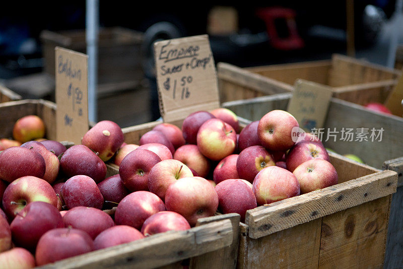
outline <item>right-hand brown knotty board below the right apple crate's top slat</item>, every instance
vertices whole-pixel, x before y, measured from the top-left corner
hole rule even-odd
[[[381,268],[390,197],[323,217],[318,268]]]

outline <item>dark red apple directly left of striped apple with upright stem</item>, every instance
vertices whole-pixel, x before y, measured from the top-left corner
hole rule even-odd
[[[124,186],[130,191],[148,190],[149,173],[159,162],[161,158],[148,149],[136,149],[128,153],[119,166]]]

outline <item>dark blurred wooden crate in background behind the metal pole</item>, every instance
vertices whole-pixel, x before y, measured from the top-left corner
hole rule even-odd
[[[40,35],[43,45],[45,72],[54,77],[54,48],[61,46],[86,52],[83,30],[51,32]],[[101,28],[98,40],[98,88],[101,92],[134,88],[144,79],[142,68],[143,33],[127,28]]]

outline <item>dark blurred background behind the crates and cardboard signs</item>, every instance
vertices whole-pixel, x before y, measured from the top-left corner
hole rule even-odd
[[[266,3],[223,1],[194,6],[143,2],[136,8],[127,1],[100,1],[101,28],[123,27],[141,33],[138,58],[142,81],[136,86],[103,85],[98,94],[98,120],[115,120],[125,127],[159,117],[152,43],[162,39],[207,33],[215,62],[239,67],[330,59],[333,53],[387,65],[395,1],[354,1],[351,25],[355,38],[349,51],[346,1]],[[85,5],[85,1],[3,3],[0,84],[24,98],[54,100],[53,78],[44,75],[43,31],[83,31]],[[100,81],[102,74],[99,76]]]

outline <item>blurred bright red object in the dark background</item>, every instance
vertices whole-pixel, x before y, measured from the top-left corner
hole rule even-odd
[[[297,31],[297,24],[295,22],[296,13],[294,10],[282,7],[261,8],[257,10],[256,14],[265,22],[267,34],[274,48],[292,50],[304,46],[304,41]],[[279,30],[284,30],[278,29],[279,25],[276,25],[276,23],[280,22],[286,23],[287,36],[283,37],[283,33],[279,33]]]

